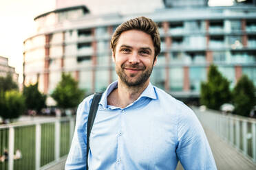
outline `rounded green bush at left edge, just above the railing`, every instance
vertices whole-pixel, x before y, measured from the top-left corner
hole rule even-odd
[[[1,91],[1,112],[2,119],[16,119],[25,110],[25,99],[17,90]]]

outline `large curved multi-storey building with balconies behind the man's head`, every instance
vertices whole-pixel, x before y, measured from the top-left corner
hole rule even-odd
[[[117,79],[111,35],[120,23],[147,16],[158,23],[161,38],[152,84],[180,99],[198,98],[214,63],[231,88],[242,74],[256,85],[256,6],[188,4],[164,1],[154,12],[101,15],[77,5],[36,16],[37,34],[24,41],[23,82],[39,81],[39,90],[51,94],[61,73],[69,72],[87,94],[105,90]]]

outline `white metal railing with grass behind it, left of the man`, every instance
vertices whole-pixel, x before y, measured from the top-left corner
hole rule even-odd
[[[0,125],[0,170],[43,169],[67,156],[74,118]]]

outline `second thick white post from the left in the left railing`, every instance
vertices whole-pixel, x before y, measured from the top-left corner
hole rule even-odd
[[[36,170],[41,166],[41,124],[36,124]]]

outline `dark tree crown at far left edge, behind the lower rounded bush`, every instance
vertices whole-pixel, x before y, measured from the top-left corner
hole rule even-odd
[[[10,73],[8,73],[6,77],[0,77],[0,90],[4,92],[6,90],[18,90],[18,85],[12,80]]]

